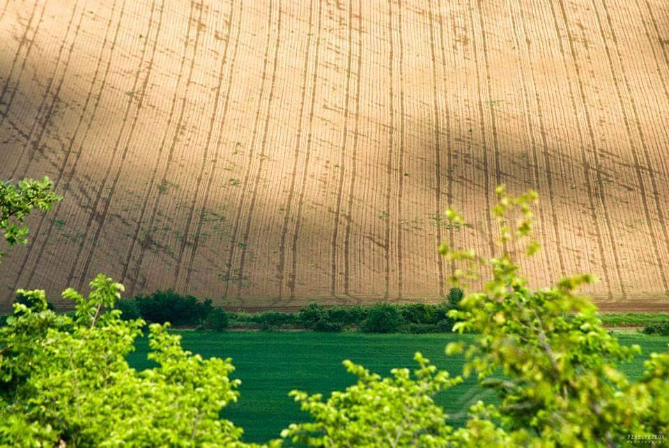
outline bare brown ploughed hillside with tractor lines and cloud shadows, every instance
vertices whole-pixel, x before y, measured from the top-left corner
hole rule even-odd
[[[537,284],[669,310],[665,0],[0,0],[0,178],[65,201],[18,287],[231,308],[434,300],[528,187]],[[449,203],[483,231],[452,231]]]

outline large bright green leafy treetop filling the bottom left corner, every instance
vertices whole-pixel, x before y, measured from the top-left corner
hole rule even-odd
[[[74,317],[48,310],[44,291],[20,291],[29,304],[0,328],[0,445],[242,445],[241,429],[220,419],[238,396],[230,360],[192,355],[153,324],[158,366],[130,369],[144,323],[113,308],[122,291],[103,275],[88,298],[68,289]]]

